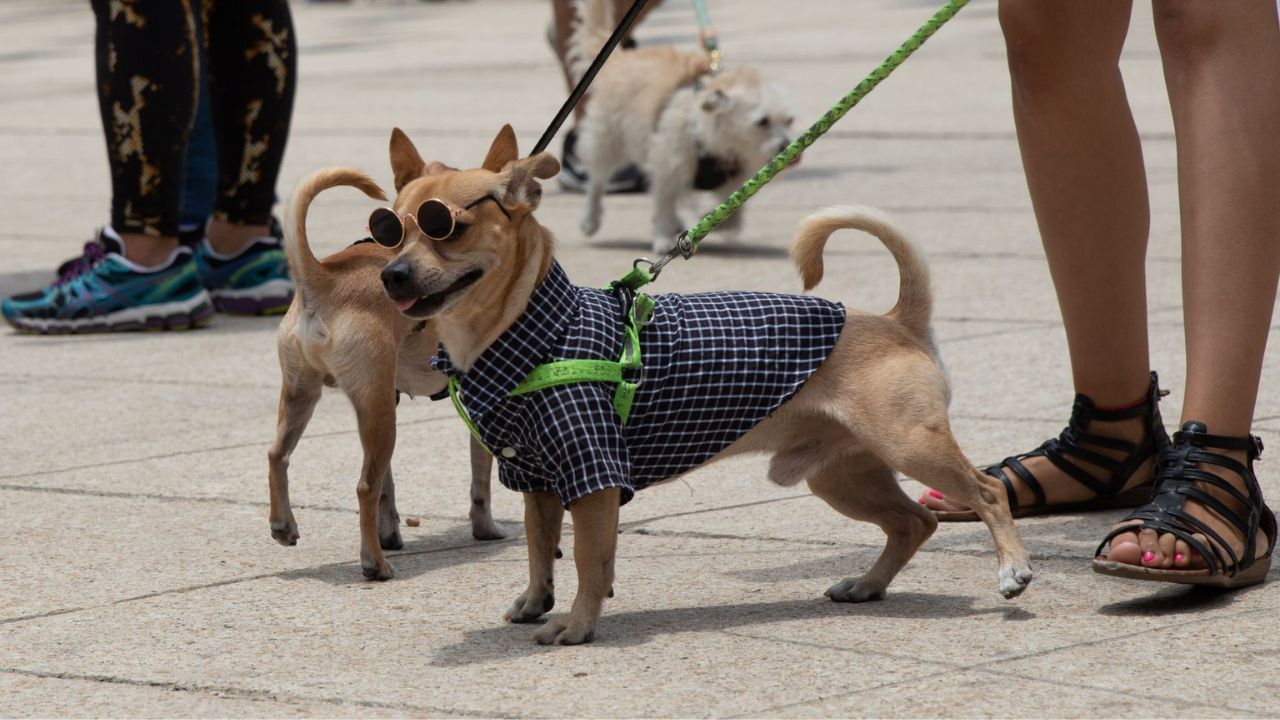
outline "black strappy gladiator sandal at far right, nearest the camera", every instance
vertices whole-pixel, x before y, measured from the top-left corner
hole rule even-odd
[[[1233,457],[1210,452],[1207,448],[1244,450],[1248,462],[1240,464]],[[1172,446],[1160,452],[1160,466],[1156,470],[1156,495],[1120,525],[1107,533],[1094,551],[1093,570],[1103,575],[1116,575],[1135,580],[1158,580],[1189,585],[1213,585],[1219,588],[1243,588],[1266,580],[1271,569],[1271,553],[1276,546],[1276,516],[1262,502],[1262,488],[1253,473],[1253,461],[1262,455],[1262,441],[1254,436],[1211,436],[1203,423],[1189,420],[1181,432],[1174,433]],[[1240,492],[1225,479],[1202,469],[1203,465],[1217,465],[1235,473],[1244,480],[1245,492]],[[1222,501],[1197,486],[1213,486],[1244,506],[1247,516],[1240,516]],[[1187,502],[1197,502],[1206,510],[1231,524],[1239,533],[1244,552],[1236,556],[1230,543],[1204,521],[1187,512]],[[1130,520],[1137,520],[1125,525]],[[1152,529],[1157,533],[1170,533],[1199,553],[1208,568],[1194,570],[1176,568],[1144,568],[1115,562],[1102,555],[1110,551],[1111,541],[1123,533]],[[1258,530],[1267,538],[1267,551],[1256,557]],[[1196,541],[1193,536],[1202,534],[1208,543]]]

